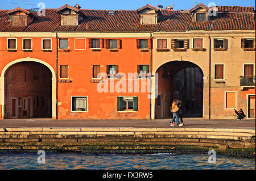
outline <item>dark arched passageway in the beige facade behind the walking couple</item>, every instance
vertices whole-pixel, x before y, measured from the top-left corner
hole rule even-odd
[[[172,117],[172,101],[180,99],[184,117],[203,117],[203,71],[188,61],[171,61],[156,70],[158,97],[155,119]]]

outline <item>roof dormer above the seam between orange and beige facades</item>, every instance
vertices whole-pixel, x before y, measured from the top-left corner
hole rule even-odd
[[[146,5],[137,10],[141,16],[141,24],[157,24],[160,9]]]

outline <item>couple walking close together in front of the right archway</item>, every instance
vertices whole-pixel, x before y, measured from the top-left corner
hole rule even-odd
[[[181,112],[181,100],[174,99],[174,102],[172,102],[172,109],[171,109],[173,118],[171,121],[171,127],[174,127],[175,125],[179,125],[179,127],[182,127],[183,120],[182,120],[182,112]],[[179,121],[180,118],[180,121]],[[175,121],[175,123],[174,123]]]

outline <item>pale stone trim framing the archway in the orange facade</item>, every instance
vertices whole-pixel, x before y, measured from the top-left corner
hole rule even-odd
[[[47,66],[47,68],[51,71],[52,73],[52,119],[56,119],[56,74],[55,74],[55,70],[52,68],[51,65],[49,65],[47,62],[36,59],[36,58],[20,58],[14,61],[9,62],[9,64],[7,64],[1,72],[1,78],[0,78],[0,104],[2,107],[2,117],[1,119],[4,119],[4,110],[5,110],[5,73],[6,71],[14,64],[19,63],[19,62],[38,62],[40,64],[43,64],[45,66]]]

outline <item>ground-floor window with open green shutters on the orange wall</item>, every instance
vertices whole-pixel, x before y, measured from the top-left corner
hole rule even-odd
[[[117,111],[138,111],[138,97],[118,97]]]

